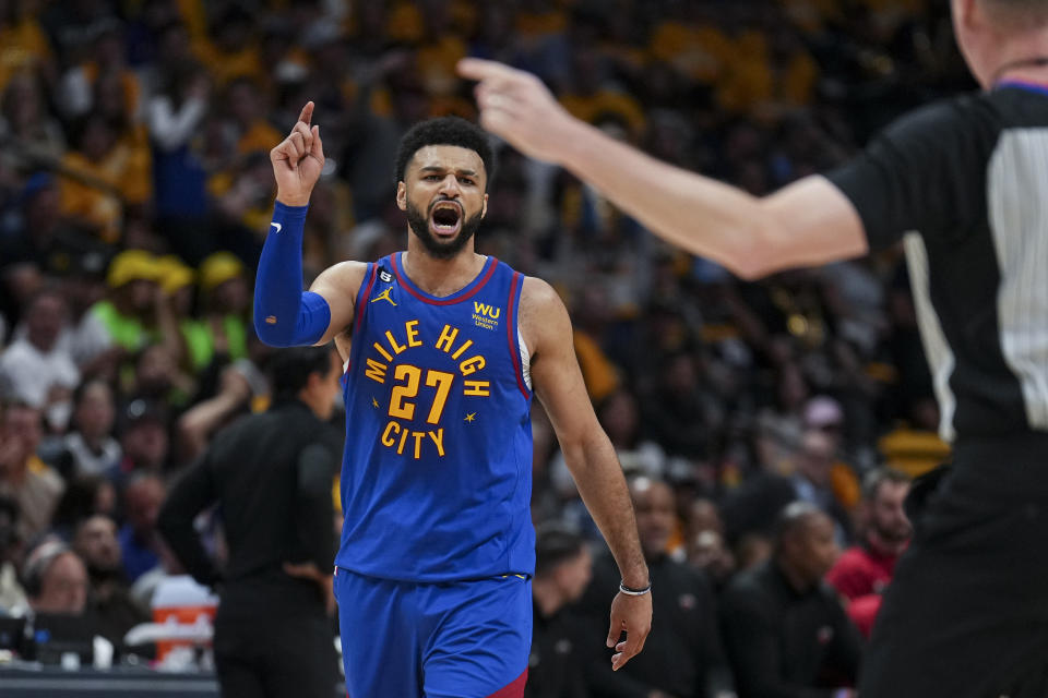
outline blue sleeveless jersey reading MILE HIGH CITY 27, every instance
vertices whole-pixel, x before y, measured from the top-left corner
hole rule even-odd
[[[404,581],[533,574],[524,277],[488,257],[436,298],[402,255],[369,264],[357,293],[335,564]]]

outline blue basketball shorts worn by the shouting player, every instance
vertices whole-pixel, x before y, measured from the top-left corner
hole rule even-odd
[[[335,569],[349,698],[520,698],[532,582],[416,583]]]

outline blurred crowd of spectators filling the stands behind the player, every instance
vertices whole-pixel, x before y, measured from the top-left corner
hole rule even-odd
[[[179,571],[155,532],[166,488],[269,404],[250,321],[267,153],[308,99],[327,164],[307,281],[404,246],[396,144],[475,117],[462,57],[760,195],[970,86],[944,5],[0,0],[0,609],[90,609],[119,645]],[[774,555],[789,503],[862,543],[864,478],[948,457],[897,251],[742,282],[510,148],[490,194],[478,251],[561,292],[623,469],[671,494],[654,553],[714,588]],[[534,434],[536,525],[596,541],[538,406]]]

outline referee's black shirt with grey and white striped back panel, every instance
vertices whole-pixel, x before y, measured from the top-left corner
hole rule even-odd
[[[1048,86],[916,111],[829,179],[904,240],[942,437],[1048,431]]]

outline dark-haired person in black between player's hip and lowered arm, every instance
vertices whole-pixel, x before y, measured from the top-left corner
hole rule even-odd
[[[570,605],[593,576],[593,557],[585,540],[555,526],[540,529],[535,540],[532,580],[534,618],[532,651],[527,658],[525,698],[586,698],[583,672],[585,626]]]

